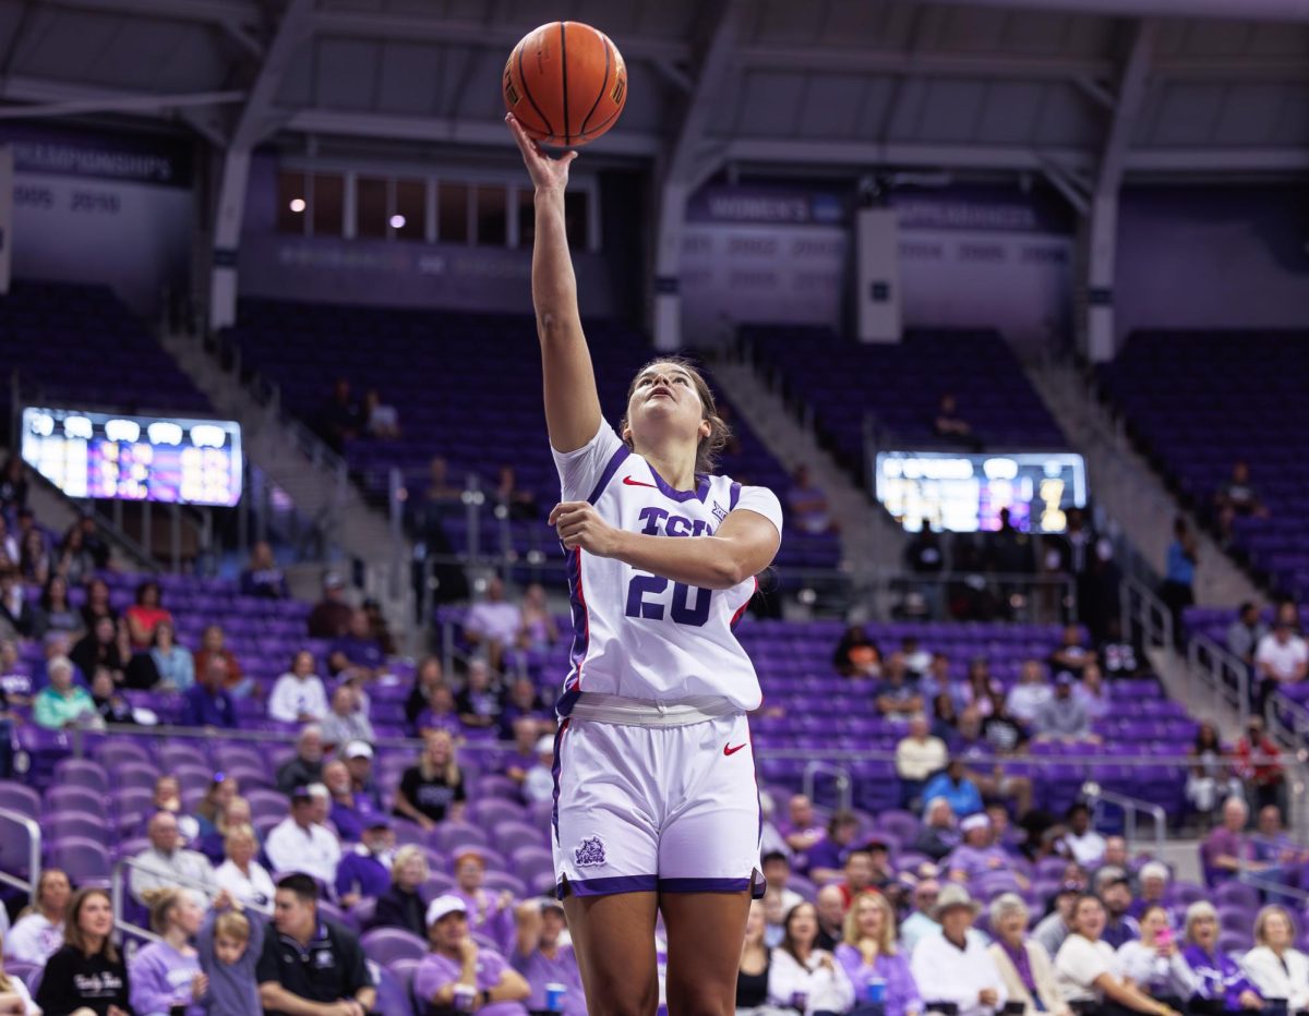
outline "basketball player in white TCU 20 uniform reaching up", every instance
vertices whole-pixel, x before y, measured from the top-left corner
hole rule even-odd
[[[653,1013],[654,921],[670,1013],[736,1009],[751,890],[763,894],[746,713],[759,680],[732,634],[781,541],[764,488],[709,476],[726,439],[703,378],[660,358],[602,417],[564,231],[576,153],[508,123],[535,184],[531,296],[563,500],[576,637],[559,698],[558,892],[593,1016]]]

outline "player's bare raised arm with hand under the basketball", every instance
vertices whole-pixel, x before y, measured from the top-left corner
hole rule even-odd
[[[541,366],[546,379],[546,426],[555,451],[575,451],[600,429],[600,396],[577,313],[577,279],[564,226],[568,152],[554,160],[505,116],[535,187],[537,235],[531,252],[531,302],[537,309]]]

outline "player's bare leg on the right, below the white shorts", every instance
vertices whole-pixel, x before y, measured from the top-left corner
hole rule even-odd
[[[732,1016],[750,892],[664,893],[669,1016]]]

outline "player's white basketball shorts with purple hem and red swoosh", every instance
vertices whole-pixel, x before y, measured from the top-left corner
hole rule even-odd
[[[555,736],[559,898],[762,896],[762,825],[745,714],[681,727],[572,717]]]

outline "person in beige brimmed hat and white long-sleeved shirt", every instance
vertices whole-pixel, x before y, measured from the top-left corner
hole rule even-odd
[[[933,917],[941,934],[919,939],[910,965],[928,1011],[944,1002],[954,1004],[958,1016],[986,1016],[1008,1000],[986,944],[969,935],[978,909],[962,885],[946,885],[937,897]]]

